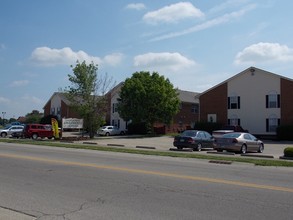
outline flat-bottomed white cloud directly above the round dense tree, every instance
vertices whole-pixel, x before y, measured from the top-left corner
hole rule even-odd
[[[176,72],[195,65],[195,61],[182,56],[180,53],[146,53],[134,57],[135,67],[153,71]]]

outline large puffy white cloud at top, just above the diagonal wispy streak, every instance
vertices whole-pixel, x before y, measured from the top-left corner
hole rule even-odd
[[[165,6],[157,11],[151,11],[143,16],[143,20],[149,24],[176,23],[186,18],[200,18],[204,13],[194,7],[190,2],[179,2]]]

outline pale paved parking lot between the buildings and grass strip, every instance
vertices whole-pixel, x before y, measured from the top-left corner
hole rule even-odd
[[[65,136],[74,136],[74,134],[65,134]],[[133,149],[149,149],[149,150],[160,150],[160,151],[178,151],[173,146],[173,137],[171,136],[159,136],[159,137],[141,137],[141,136],[108,136],[108,137],[95,137],[94,139],[78,141],[80,143],[98,144],[100,146],[111,146],[111,147],[124,147]],[[278,159],[283,156],[284,149],[286,147],[293,147],[293,142],[288,141],[270,141],[263,140],[264,152],[255,153],[248,152],[247,156],[255,157],[268,157]],[[217,153],[213,149],[203,149],[201,152],[183,150],[184,152],[197,153],[197,154],[214,154]],[[182,152],[178,151],[178,152]],[[223,153],[225,154],[225,152]],[[241,156],[240,154],[231,154],[231,156]]]

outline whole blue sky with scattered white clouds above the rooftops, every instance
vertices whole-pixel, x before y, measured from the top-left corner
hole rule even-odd
[[[156,71],[194,92],[250,66],[293,78],[291,0],[0,3],[1,117],[42,112],[77,60],[117,84]]]

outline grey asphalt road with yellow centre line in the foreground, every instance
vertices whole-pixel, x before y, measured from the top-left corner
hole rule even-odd
[[[293,219],[292,168],[9,143],[0,167],[0,219]]]

